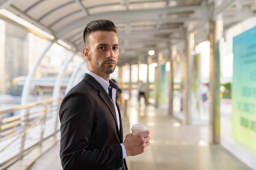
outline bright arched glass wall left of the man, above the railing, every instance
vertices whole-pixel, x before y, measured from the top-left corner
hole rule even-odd
[[[0,95],[11,96],[16,104],[20,103],[25,78],[50,43],[23,27],[0,20]],[[56,76],[73,55],[71,50],[54,43],[36,69],[30,95],[52,95]],[[79,55],[73,57],[65,69],[65,83],[83,60]]]

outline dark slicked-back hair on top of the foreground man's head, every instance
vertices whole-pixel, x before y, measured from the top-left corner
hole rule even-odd
[[[83,31],[83,41],[86,43],[88,35],[95,31],[114,31],[117,33],[117,27],[110,20],[94,20],[89,22]]]

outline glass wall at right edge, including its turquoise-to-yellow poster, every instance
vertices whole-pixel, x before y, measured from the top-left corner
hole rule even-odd
[[[249,167],[256,167],[255,26],[252,17],[230,28],[221,46],[221,144]]]

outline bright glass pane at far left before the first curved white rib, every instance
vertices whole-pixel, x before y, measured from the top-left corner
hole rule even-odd
[[[20,96],[23,87],[13,80],[27,75],[34,60],[49,42],[14,24],[6,22],[5,26],[4,82],[6,86],[2,94]]]

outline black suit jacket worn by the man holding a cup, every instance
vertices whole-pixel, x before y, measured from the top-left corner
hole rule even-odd
[[[117,106],[118,108],[118,106]],[[123,129],[105,89],[89,74],[61,103],[61,164],[64,170],[122,170]],[[119,168],[121,167],[121,168]]]

